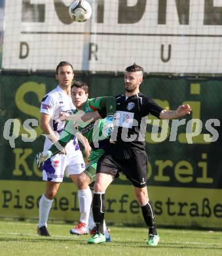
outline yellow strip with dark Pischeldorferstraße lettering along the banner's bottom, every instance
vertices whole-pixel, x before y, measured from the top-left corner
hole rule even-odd
[[[38,219],[44,182],[0,181],[0,217]],[[64,182],[54,198],[50,220],[79,221],[77,189]],[[221,226],[221,190],[149,186],[157,224],[162,226]],[[109,223],[143,224],[141,208],[131,185],[111,184],[105,194],[105,219]]]

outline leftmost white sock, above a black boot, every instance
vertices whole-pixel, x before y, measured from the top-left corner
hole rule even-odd
[[[52,208],[53,200],[47,199],[44,194],[39,201],[39,228],[47,226],[48,215]]]

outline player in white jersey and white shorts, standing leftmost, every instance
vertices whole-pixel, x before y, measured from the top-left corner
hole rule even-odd
[[[47,135],[44,144],[46,152],[59,138],[64,129],[65,121],[58,121],[60,112],[72,112],[75,106],[71,100],[71,83],[73,81],[73,66],[69,62],[60,62],[56,68],[56,79],[59,85],[44,96],[41,103],[41,128]],[[90,146],[84,139],[86,154]],[[74,137],[67,146],[64,154],[57,154],[46,160],[43,164],[43,181],[46,181],[46,190],[39,201],[39,224],[37,232],[40,236],[50,236],[46,228],[48,215],[52,207],[54,196],[58,191],[60,182],[63,181],[64,173],[77,184],[79,175],[84,171],[83,154],[79,148],[77,139]],[[80,188],[78,188],[80,189]],[[88,223],[89,213],[85,212],[84,205],[91,204],[92,194],[90,188],[79,190],[79,208],[81,211],[81,221]]]

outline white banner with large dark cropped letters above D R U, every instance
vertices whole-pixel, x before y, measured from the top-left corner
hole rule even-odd
[[[77,71],[136,62],[150,73],[221,74],[221,1],[88,0],[82,23],[71,20],[71,1],[6,1],[5,70],[54,70],[65,59]]]

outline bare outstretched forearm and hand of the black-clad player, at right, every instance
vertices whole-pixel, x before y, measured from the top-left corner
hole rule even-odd
[[[181,105],[177,110],[162,110],[160,112],[160,119],[177,119],[180,116],[187,116],[191,113],[189,104]]]

